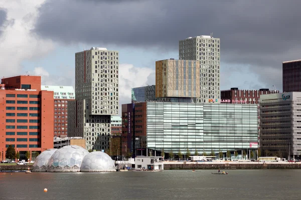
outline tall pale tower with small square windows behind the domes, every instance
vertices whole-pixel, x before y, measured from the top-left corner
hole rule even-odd
[[[92,47],[75,53],[75,96],[68,106],[68,136],[84,137],[87,149],[108,149],[111,115],[118,114],[118,51]]]

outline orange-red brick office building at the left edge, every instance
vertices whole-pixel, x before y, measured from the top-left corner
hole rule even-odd
[[[25,159],[53,148],[53,91],[41,90],[41,76],[2,78],[0,85],[0,160],[13,145]]]

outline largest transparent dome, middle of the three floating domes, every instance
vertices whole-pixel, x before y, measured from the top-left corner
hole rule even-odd
[[[82,159],[88,153],[89,151],[77,145],[59,148],[50,157],[47,171],[80,171]]]

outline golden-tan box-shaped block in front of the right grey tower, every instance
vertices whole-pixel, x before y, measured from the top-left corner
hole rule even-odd
[[[199,97],[200,61],[156,61],[156,97]]]

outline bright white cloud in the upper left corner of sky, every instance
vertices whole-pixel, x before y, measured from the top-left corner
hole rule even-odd
[[[54,49],[51,40],[34,34],[38,7],[44,0],[1,0],[0,7],[7,11],[8,24],[0,37],[1,76],[24,74],[22,61],[41,57]]]

